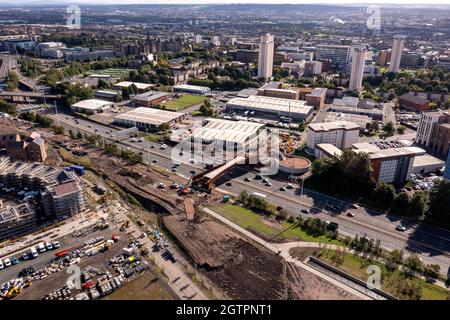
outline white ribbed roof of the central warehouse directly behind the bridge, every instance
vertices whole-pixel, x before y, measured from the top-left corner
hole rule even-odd
[[[230,121],[222,119],[207,119],[208,124],[192,132],[191,137],[202,141],[227,141],[244,143],[257,134],[263,124],[248,121]]]

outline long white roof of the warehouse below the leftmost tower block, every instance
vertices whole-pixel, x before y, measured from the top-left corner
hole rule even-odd
[[[266,96],[249,96],[248,98],[233,98],[227,105],[242,106],[249,109],[264,109],[267,111],[282,111],[291,113],[308,114],[314,108],[306,105],[306,101],[273,98]]]

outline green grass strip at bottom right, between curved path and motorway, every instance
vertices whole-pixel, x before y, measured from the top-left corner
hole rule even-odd
[[[336,255],[335,251],[329,249],[323,249],[319,258],[338,269],[354,276],[355,278],[366,281],[369,277],[369,273],[367,273],[367,267],[370,265],[376,265],[381,270],[381,289],[395,295],[395,284],[398,284],[399,281],[406,279],[401,271],[390,271],[386,268],[385,265],[376,262],[370,261],[367,258],[356,256],[350,253],[340,253],[343,255],[342,263],[336,264],[333,261],[333,255]],[[422,289],[422,300],[446,300],[449,292],[445,288],[442,288],[436,284],[428,283],[421,278],[411,278],[410,281],[414,282]]]

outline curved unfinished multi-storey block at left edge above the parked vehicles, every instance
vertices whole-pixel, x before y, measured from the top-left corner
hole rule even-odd
[[[74,172],[39,163],[0,158],[2,191],[21,195],[22,203],[33,203],[44,219],[63,219],[86,210],[83,190]],[[17,209],[17,208],[16,208]]]

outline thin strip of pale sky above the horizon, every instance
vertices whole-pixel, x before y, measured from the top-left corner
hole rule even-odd
[[[307,4],[448,4],[449,0],[0,0],[0,4],[206,4],[206,3],[307,3]]]

